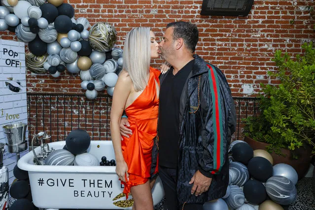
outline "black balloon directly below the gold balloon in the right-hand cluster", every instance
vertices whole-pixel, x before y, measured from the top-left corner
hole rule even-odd
[[[236,146],[235,144],[234,146]],[[252,158],[247,165],[249,174],[258,181],[266,182],[270,178],[274,169],[266,158],[263,157],[254,157]]]

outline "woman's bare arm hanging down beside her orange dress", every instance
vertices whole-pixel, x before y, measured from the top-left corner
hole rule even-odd
[[[120,118],[125,109],[126,101],[130,95],[132,88],[132,80],[127,72],[119,74],[117,83],[114,88],[114,94],[110,111],[110,135],[113,142],[116,158],[116,173],[118,177],[125,180],[125,174],[128,178],[128,166],[124,160],[121,150],[121,135],[120,135]]]

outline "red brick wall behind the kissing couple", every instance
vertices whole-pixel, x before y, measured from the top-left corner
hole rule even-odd
[[[66,2],[66,1],[65,1]],[[165,26],[184,20],[197,24],[197,53],[224,71],[234,96],[252,96],[259,84],[271,81],[267,70],[277,49],[301,52],[300,46],[315,37],[311,16],[314,0],[255,0],[247,17],[201,16],[202,0],[68,0],[75,18],[86,17],[91,25],[108,22],[118,32],[117,45],[133,27],[151,27],[160,40]],[[1,32],[0,38],[13,39]],[[155,67],[162,60],[155,60]],[[28,92],[82,92],[78,75],[55,79],[27,71]]]

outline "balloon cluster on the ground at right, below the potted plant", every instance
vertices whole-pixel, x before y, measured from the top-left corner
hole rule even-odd
[[[273,166],[272,156],[265,150],[254,150],[245,141],[236,140],[229,147],[229,186],[220,202],[212,202],[209,210],[283,210],[297,196],[298,175],[287,164]],[[204,210],[208,210],[205,209]]]

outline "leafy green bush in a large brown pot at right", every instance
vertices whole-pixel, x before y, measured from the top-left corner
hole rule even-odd
[[[315,154],[315,49],[312,42],[302,48],[294,59],[276,51],[278,68],[268,74],[280,83],[262,84],[260,115],[245,118],[243,131],[253,149],[266,149],[275,164],[291,165],[299,178]]]

